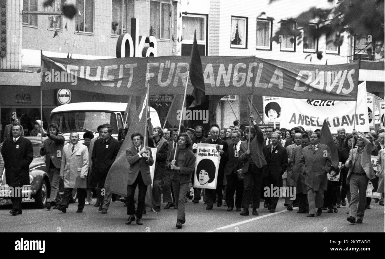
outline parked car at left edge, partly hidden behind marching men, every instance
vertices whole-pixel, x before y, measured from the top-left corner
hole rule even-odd
[[[22,192],[24,193],[23,201],[30,201],[31,199],[35,200],[36,207],[39,209],[45,208],[47,204],[47,199],[50,196],[51,190],[51,180],[52,175],[48,174],[48,168],[45,165],[45,156],[40,155],[40,144],[42,143],[40,137],[25,137],[29,139],[32,143],[33,148],[33,160],[29,165],[29,185],[24,185]],[[43,137],[43,141],[47,137]],[[3,147],[3,143],[0,144],[0,150]],[[5,179],[5,169],[2,176],[2,183],[0,184],[0,202],[1,204],[10,203],[10,190]],[[59,183],[60,194],[64,193],[64,183],[63,180],[60,180]],[[70,199],[71,203],[74,203],[77,198],[76,189],[72,192],[72,197]]]

